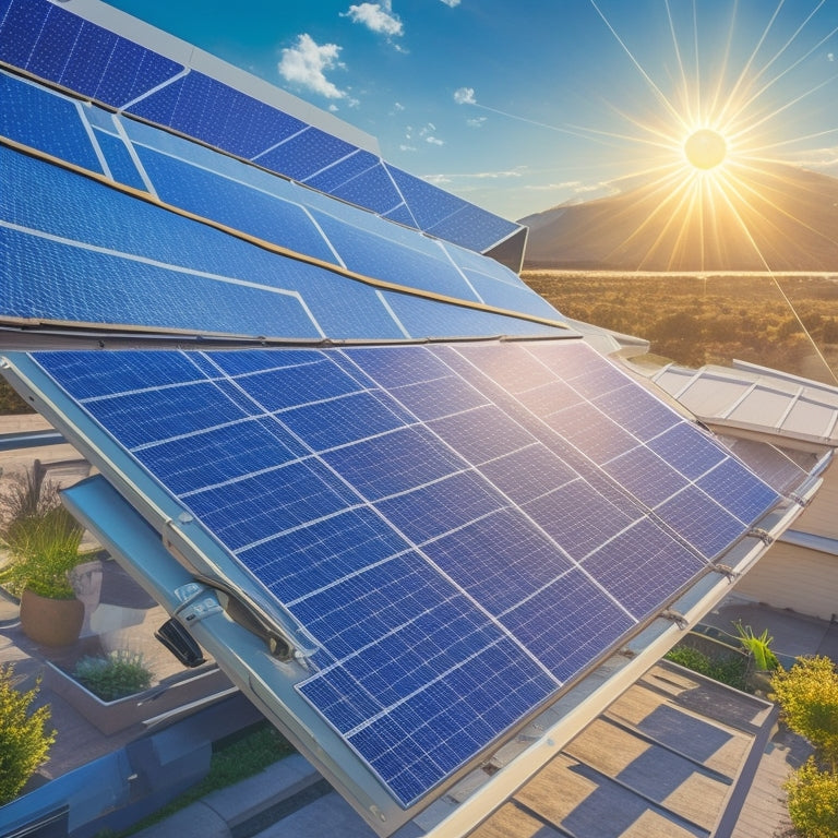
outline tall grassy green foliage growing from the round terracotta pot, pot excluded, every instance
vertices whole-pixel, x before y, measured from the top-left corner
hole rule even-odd
[[[0,539],[9,562],[0,583],[50,599],[72,599],[72,571],[84,560],[84,528],[61,505],[58,487],[36,466],[14,475],[0,492]]]

